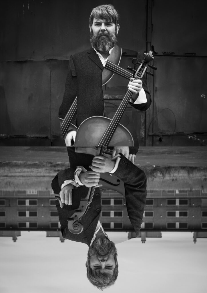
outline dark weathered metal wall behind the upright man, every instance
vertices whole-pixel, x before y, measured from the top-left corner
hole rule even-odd
[[[133,110],[131,114],[129,108],[123,124],[136,132],[141,145],[205,144],[207,99],[201,96],[207,91],[207,2],[106,3],[113,4],[121,16],[121,47],[143,53],[148,40],[148,48],[153,45],[158,53],[154,81],[148,78],[153,103],[146,119],[145,113]],[[92,8],[101,4],[87,1],[80,7],[78,2],[66,0],[1,1],[0,145],[63,145],[57,117],[68,59],[90,46],[88,19]],[[130,66],[129,57],[124,58],[122,66]],[[119,80],[116,85],[120,84]],[[111,102],[106,104],[109,116],[117,100]],[[193,132],[200,134],[189,139]]]

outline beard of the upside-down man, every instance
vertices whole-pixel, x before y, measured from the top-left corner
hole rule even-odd
[[[108,238],[98,238],[97,240],[95,239],[88,249],[88,258],[93,255],[104,258],[108,257],[109,254],[116,256],[117,249],[114,242],[110,241]]]

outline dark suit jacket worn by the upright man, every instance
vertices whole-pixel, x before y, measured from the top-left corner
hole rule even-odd
[[[138,53],[140,59],[140,53]],[[136,65],[136,68],[138,65]],[[93,48],[76,53],[70,57],[68,74],[66,78],[65,93],[59,108],[59,117],[64,118],[73,100],[78,96],[77,119],[73,117],[72,123],[79,127],[88,117],[103,116],[104,100],[102,91],[102,71],[104,67]],[[151,103],[145,76],[142,79],[147,103],[133,104],[134,108],[145,111]]]

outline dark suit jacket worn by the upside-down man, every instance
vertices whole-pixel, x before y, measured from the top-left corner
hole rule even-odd
[[[54,193],[59,193],[61,185],[64,180],[73,179],[75,168],[69,168],[60,171],[55,178],[52,180],[52,189]],[[146,176],[145,173],[132,164],[121,154],[121,160],[119,167],[114,173],[115,176],[119,177],[124,181],[126,208],[129,215],[131,224],[138,236],[140,226],[142,223],[144,207],[146,204]],[[80,234],[73,234],[69,231],[67,226],[67,218],[71,217],[73,210],[77,209],[80,202],[80,197],[87,194],[88,188],[81,186],[78,188],[80,193],[72,200],[72,206],[64,205],[60,207],[59,201],[56,200],[56,207],[58,211],[59,221],[61,224],[61,232],[64,238],[73,241],[83,242],[90,246],[91,239],[95,232],[95,228],[98,223],[101,212],[101,196],[99,188],[96,188],[96,195],[93,197],[93,201],[90,204],[90,209],[86,215],[80,220],[84,228]]]

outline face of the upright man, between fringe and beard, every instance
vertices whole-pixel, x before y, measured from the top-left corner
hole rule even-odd
[[[119,31],[119,24],[117,28],[114,23],[107,21],[104,18],[94,18],[93,24],[90,30],[93,31],[93,34],[98,37],[99,35],[114,35],[115,32]]]

